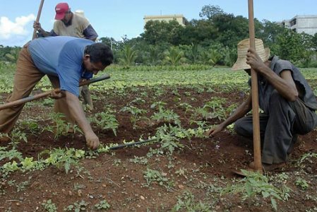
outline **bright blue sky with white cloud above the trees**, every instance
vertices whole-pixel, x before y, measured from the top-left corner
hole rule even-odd
[[[32,39],[41,0],[0,0],[0,45],[22,46]],[[99,37],[122,40],[143,33],[144,16],[182,14],[201,19],[203,6],[219,6],[225,13],[248,18],[248,0],[46,0],[40,23],[52,30],[56,4],[67,2],[71,11],[83,11]],[[253,0],[254,18],[282,21],[297,15],[317,15],[316,0]]]

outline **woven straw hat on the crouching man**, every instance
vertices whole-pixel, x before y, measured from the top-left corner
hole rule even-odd
[[[246,53],[250,47],[249,39],[242,40],[238,43],[238,59],[232,66],[233,71],[241,69],[251,69],[251,67],[246,64]],[[256,53],[261,57],[262,61],[267,61],[270,57],[270,49],[264,48],[263,41],[256,38]]]

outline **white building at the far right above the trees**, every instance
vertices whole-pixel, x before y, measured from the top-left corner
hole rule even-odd
[[[281,24],[297,33],[317,33],[317,16],[295,16],[291,20],[283,20]]]

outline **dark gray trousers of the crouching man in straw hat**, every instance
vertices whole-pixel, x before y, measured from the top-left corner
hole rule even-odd
[[[297,134],[307,134],[317,126],[316,112],[310,110],[299,98],[295,102],[285,100],[273,91],[269,102],[269,114],[260,114],[262,162],[273,164],[287,161]],[[252,115],[237,120],[237,134],[253,137]]]

